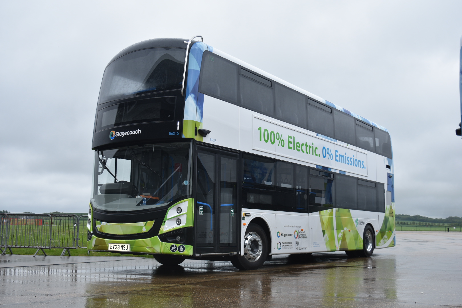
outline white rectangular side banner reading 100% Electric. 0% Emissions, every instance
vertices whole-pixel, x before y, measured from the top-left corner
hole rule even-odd
[[[367,175],[367,154],[253,116],[252,149],[359,175]],[[336,140],[334,140],[336,141]]]

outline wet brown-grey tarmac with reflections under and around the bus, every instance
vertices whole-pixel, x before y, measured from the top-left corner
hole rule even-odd
[[[462,307],[462,233],[396,239],[372,258],[283,255],[246,272],[230,262],[0,256],[0,307]]]

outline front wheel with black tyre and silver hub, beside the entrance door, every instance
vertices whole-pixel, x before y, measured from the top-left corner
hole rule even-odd
[[[244,238],[244,255],[233,256],[232,265],[240,270],[256,270],[268,255],[268,240],[265,231],[256,223],[249,223]]]

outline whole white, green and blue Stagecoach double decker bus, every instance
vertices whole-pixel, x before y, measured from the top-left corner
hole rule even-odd
[[[395,246],[388,131],[200,36],[109,62],[92,149],[89,250],[251,270]]]

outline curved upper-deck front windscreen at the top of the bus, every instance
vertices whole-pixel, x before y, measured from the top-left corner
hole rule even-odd
[[[181,48],[149,48],[117,58],[104,71],[98,103],[181,89],[185,54]]]

